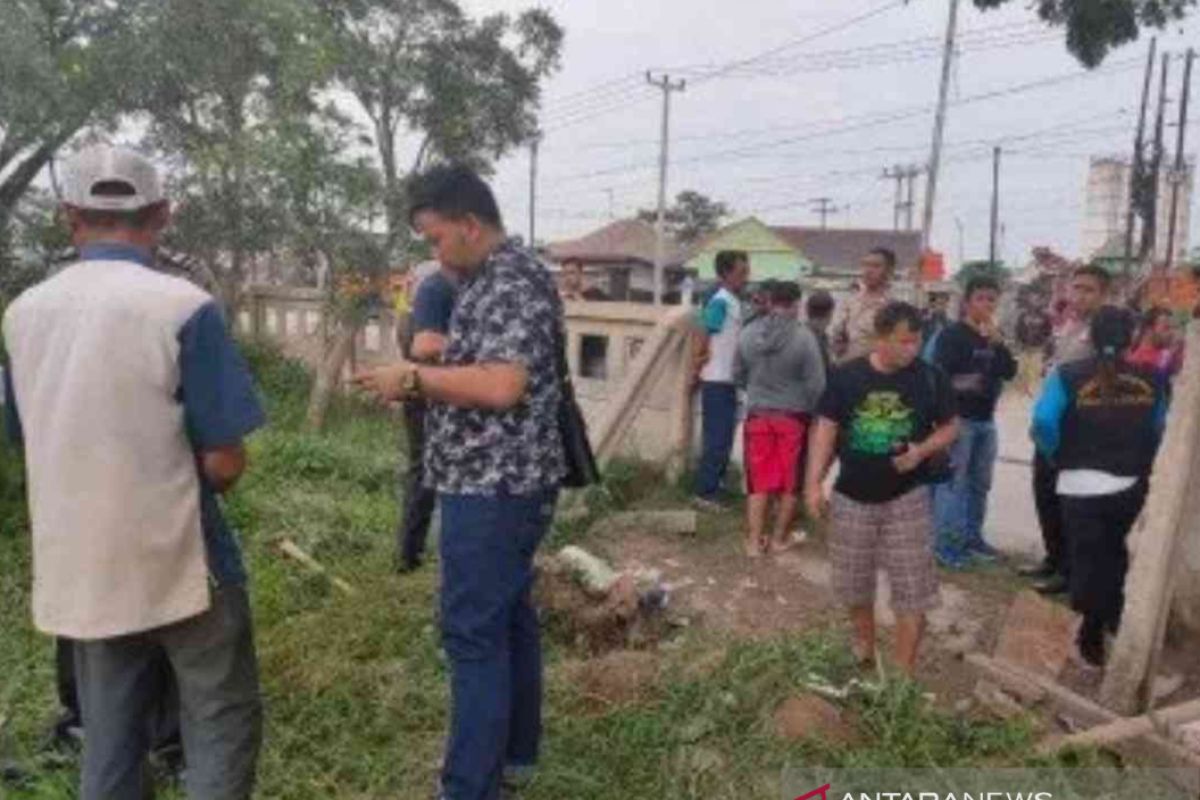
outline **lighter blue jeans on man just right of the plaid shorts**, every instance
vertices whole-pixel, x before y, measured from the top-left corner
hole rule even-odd
[[[950,449],[954,480],[934,489],[934,525],[942,555],[965,555],[983,543],[1000,441],[991,420],[959,419],[959,438]]]

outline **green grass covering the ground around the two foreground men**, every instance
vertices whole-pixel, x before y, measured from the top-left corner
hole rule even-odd
[[[340,398],[326,429],[306,433],[307,374],[262,348],[248,348],[248,356],[271,425],[251,441],[252,467],[228,512],[252,575],[266,697],[259,796],[428,796],[444,736],[446,668],[433,619],[434,571],[391,571],[397,421]],[[0,795],[65,799],[73,796],[74,764],[55,765],[40,752],[56,703],[50,642],[29,616],[20,474],[18,456],[0,452],[0,762],[31,778],[0,787]],[[588,517],[558,527],[552,545],[582,539],[592,521],[616,509],[684,497],[644,465],[617,465],[605,488],[592,492]],[[271,545],[283,535],[356,594],[344,596],[281,559]],[[948,716],[905,684],[850,703],[856,747],[780,740],[772,714],[806,675],[850,675],[845,648],[829,632],[726,642],[689,631],[661,649],[661,678],[641,700],[600,710],[562,668],[575,655],[548,643],[545,758],[526,800],[776,798],[788,764],[1015,765],[1032,747],[1025,722]]]

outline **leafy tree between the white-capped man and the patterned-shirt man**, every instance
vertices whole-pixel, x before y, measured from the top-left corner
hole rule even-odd
[[[227,308],[248,267],[294,228],[277,196],[281,149],[324,115],[329,40],[305,0],[161,0],[149,142],[173,163],[167,243],[209,265]]]

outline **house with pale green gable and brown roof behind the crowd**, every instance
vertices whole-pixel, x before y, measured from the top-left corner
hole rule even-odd
[[[917,269],[920,261],[920,233],[914,230],[768,225],[757,217],[748,217],[701,242],[688,267],[701,281],[715,279],[716,253],[740,249],[750,254],[755,281],[846,283],[858,276],[858,263],[872,247],[894,251],[901,276]]]

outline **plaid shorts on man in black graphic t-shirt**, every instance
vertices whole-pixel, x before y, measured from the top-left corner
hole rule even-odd
[[[875,604],[880,567],[888,573],[893,610],[923,612],[937,606],[929,488],[872,504],[834,493],[829,555],[833,589],[845,606]]]

